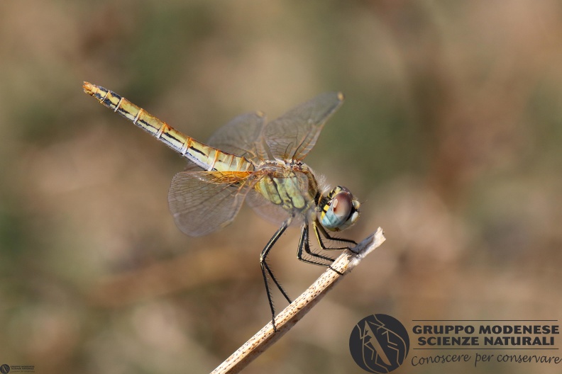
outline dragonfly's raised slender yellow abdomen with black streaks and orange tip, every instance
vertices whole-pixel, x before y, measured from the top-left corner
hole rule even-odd
[[[248,171],[253,169],[253,164],[245,157],[222,152],[184,135],[114,91],[88,82],[84,82],[84,91],[204,170]]]

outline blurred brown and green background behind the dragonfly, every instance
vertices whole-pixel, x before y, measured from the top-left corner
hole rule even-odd
[[[202,141],[346,94],[306,161],[361,200],[345,237],[387,242],[244,373],[363,373],[348,339],[373,313],[558,319],[560,35],[554,0],[1,1],[0,363],[208,373],[269,322],[258,258],[276,227],[245,207],[182,234],[167,189],[184,161],[82,81]],[[270,256],[292,297],[323,271],[297,237]],[[478,372],[529,368],[557,371]],[[451,369],[475,370],[398,371]]]

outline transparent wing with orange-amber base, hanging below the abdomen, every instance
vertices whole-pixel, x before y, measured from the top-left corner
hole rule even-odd
[[[177,227],[199,237],[228,225],[250,191],[248,171],[194,171],[192,165],[172,179],[168,204]]]

